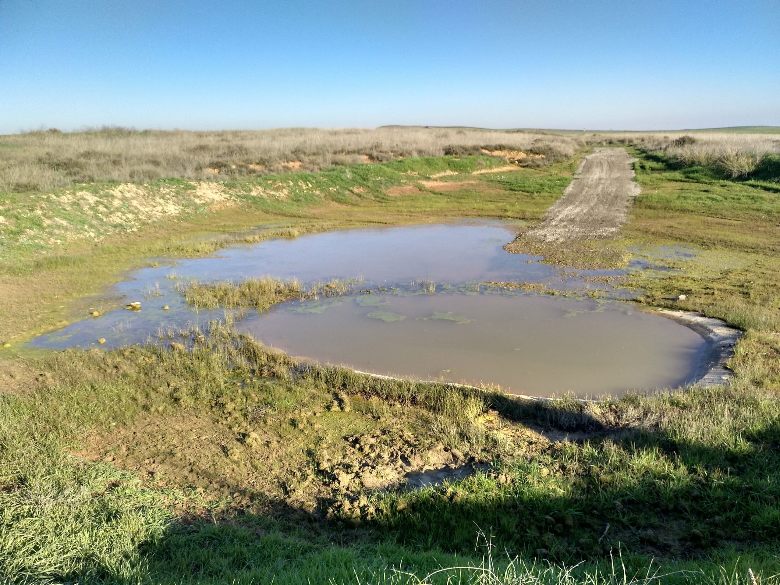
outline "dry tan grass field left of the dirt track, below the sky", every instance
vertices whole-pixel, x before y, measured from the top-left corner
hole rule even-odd
[[[52,129],[0,137],[0,193],[96,181],[147,183],[162,177],[225,180],[401,157],[480,154],[482,149],[523,152],[528,155],[524,162],[541,164],[568,158],[581,145],[580,137],[544,133],[402,126],[218,132]]]

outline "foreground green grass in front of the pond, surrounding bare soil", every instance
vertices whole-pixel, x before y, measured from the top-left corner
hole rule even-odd
[[[621,554],[632,575],[644,572],[651,556],[665,559],[658,562],[664,573],[704,569],[697,576],[680,573],[680,583],[714,580],[718,563],[739,566],[733,582],[745,582],[747,566],[770,576],[780,569],[771,545],[780,537],[780,488],[772,480],[780,471],[780,406],[771,387],[753,385],[749,355],[748,348],[739,354],[730,388],[629,395],[593,406],[517,402],[327,367],[305,367],[291,379],[286,369],[294,361],[219,328],[189,353],[150,346],[42,356],[31,365],[51,372],[44,387],[2,398],[0,573],[36,582],[216,583],[269,571],[282,582],[334,576],[348,583],[353,570],[363,576],[373,570],[394,582],[399,576],[387,566],[401,561],[418,574],[438,563],[480,563],[473,544],[482,528],[509,558],[527,559],[535,565],[531,574],[548,577],[558,573],[556,566],[584,559],[576,575],[602,573],[594,583],[610,582],[610,554]],[[251,385],[236,385],[246,376],[254,378]],[[488,455],[495,474],[411,494],[327,495],[317,485],[348,469],[349,458],[335,457],[332,467],[317,471],[307,444],[321,441],[335,452],[343,438],[328,427],[304,433],[309,427],[296,413],[303,406],[324,409],[333,392],[342,404],[352,396],[351,408],[331,415],[341,424],[363,417],[366,436],[371,428],[402,424],[420,445],[441,442]],[[154,434],[139,435],[133,445],[145,445],[143,456],[169,466],[158,477],[138,480],[108,463],[68,455],[85,437],[110,437],[134,421],[144,427],[144,420],[225,420],[236,446],[188,465],[240,479],[236,468],[253,460],[242,437],[257,399],[278,413],[280,422],[271,427],[281,424],[288,443],[278,453],[280,467],[258,471],[277,474],[285,492],[241,489],[234,500],[229,493],[239,491],[236,484],[225,495],[200,494],[176,480],[176,448]],[[389,410],[377,410],[376,401]],[[385,417],[374,417],[377,412]],[[291,419],[296,422],[287,427]],[[526,424],[635,430],[550,444],[529,437]],[[310,476],[300,493],[319,494],[313,509],[293,496],[293,472]],[[329,520],[326,508],[335,510]],[[180,516],[190,521],[181,524]],[[499,569],[505,565],[499,562]]]

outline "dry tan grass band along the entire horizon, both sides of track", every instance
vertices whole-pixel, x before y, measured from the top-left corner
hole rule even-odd
[[[746,177],[780,154],[780,134],[547,133],[384,126],[377,129],[36,130],[0,137],[0,193],[30,193],[80,183],[148,183],[161,178],[216,180],[444,154],[486,154],[521,165],[571,157],[592,144],[628,144],[683,165]]]

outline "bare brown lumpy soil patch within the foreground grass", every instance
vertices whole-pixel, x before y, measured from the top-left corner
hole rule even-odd
[[[276,418],[266,415],[237,432],[209,414],[154,412],[129,427],[89,434],[73,455],[206,499],[282,498],[309,512],[362,491],[417,488],[489,469],[398,424],[371,430],[358,413],[301,410],[291,425]]]

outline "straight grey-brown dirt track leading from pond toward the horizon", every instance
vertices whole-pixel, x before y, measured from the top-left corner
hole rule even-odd
[[[583,159],[575,179],[541,224],[521,237],[562,243],[612,236],[626,221],[631,199],[640,192],[632,161],[622,148],[597,148]]]

